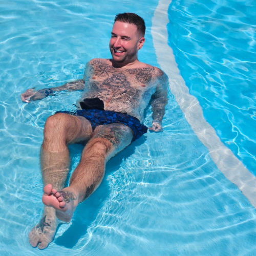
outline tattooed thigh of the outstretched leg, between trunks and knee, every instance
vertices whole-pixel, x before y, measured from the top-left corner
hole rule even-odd
[[[121,123],[104,124],[95,128],[92,133],[92,139],[93,138],[105,138],[111,142],[112,147],[107,156],[109,159],[131,144],[133,130]]]

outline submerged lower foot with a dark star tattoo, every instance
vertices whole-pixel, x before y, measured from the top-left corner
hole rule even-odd
[[[29,242],[33,247],[45,249],[54,239],[60,221],[55,216],[55,209],[45,206],[40,222],[29,233]]]

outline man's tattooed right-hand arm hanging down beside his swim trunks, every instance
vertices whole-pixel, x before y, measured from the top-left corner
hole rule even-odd
[[[162,119],[164,115],[164,107],[167,104],[167,88],[168,88],[168,77],[163,73],[159,78],[156,92],[152,95],[152,111],[153,111],[153,126],[150,130],[154,132],[160,132],[163,130]]]

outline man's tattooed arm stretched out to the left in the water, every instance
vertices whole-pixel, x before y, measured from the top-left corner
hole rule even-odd
[[[39,100],[44,99],[47,96],[54,96],[54,92],[60,91],[79,91],[84,89],[84,80],[76,80],[73,82],[68,82],[63,84],[63,86],[55,87],[55,88],[47,88],[41,89],[39,91],[35,91],[34,88],[27,90],[23,93],[20,97],[22,98],[23,102],[29,103],[31,100]]]

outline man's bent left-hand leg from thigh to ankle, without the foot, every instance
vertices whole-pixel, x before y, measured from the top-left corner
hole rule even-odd
[[[63,188],[70,164],[67,145],[89,140],[91,134],[91,123],[84,117],[57,113],[47,119],[41,148],[44,185],[50,183],[58,190]]]

